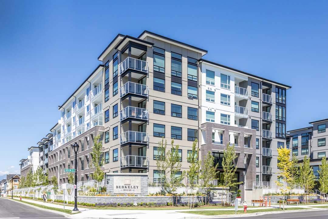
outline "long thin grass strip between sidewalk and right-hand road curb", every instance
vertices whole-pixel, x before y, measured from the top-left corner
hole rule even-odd
[[[287,208],[286,210],[300,210],[304,208]],[[284,211],[279,208],[272,208],[272,209],[250,209],[247,210],[247,213],[244,213],[243,210],[238,210],[237,214],[251,214],[251,213],[257,213],[257,212],[269,212],[269,211]],[[225,211],[218,211],[218,210],[208,210],[208,211],[179,211],[181,213],[189,213],[189,214],[200,214],[200,215],[226,215],[226,214],[235,214],[235,210],[225,210]]]

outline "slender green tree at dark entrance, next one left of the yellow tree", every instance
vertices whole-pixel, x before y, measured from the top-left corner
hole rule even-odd
[[[223,168],[223,186],[230,188],[232,186],[238,186],[243,182],[234,182],[237,181],[235,178],[235,173],[237,167],[234,167],[234,160],[237,158],[235,152],[235,144],[230,146],[230,143],[227,144],[227,148],[223,149],[223,159],[222,159],[222,168]],[[227,194],[226,194],[227,197]]]

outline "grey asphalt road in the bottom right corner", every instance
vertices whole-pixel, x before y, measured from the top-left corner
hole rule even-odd
[[[240,217],[242,219],[325,219],[328,218],[327,210],[318,211],[303,211],[303,212],[290,212],[290,213],[278,213],[278,214],[265,214],[260,216]],[[230,217],[231,218],[231,217]]]

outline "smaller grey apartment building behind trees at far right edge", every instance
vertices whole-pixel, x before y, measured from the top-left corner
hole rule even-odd
[[[310,165],[313,167],[313,173],[316,176],[315,189],[319,187],[319,165],[328,151],[326,139],[328,133],[328,119],[309,122],[311,126],[288,131],[287,148],[291,149],[292,154],[296,155],[298,162],[302,163],[304,156],[310,157]]]

